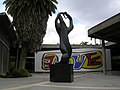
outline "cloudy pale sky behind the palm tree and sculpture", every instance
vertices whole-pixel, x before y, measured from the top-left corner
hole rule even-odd
[[[5,11],[4,0],[0,0],[0,12]],[[88,37],[88,29],[120,12],[120,0],[57,0],[56,13],[49,17],[47,32],[43,44],[59,43],[59,36],[55,29],[55,18],[59,12],[71,15],[74,29],[69,33],[71,44],[80,44],[82,41],[94,43]],[[99,40],[98,40],[99,41]]]

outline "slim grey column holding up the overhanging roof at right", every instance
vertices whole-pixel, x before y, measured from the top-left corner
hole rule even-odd
[[[103,51],[103,74],[107,75],[106,51],[105,51],[105,41],[104,40],[102,40],[102,51]]]

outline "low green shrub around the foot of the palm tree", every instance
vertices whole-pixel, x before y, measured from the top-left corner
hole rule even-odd
[[[10,74],[12,77],[30,77],[32,76],[26,69],[15,69]]]

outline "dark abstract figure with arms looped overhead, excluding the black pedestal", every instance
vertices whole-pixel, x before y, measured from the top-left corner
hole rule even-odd
[[[63,20],[64,18],[69,19],[69,26],[66,26],[66,23]],[[57,30],[57,33],[60,37],[60,51],[62,53],[61,57],[61,64],[67,64],[72,53],[72,48],[69,42],[68,34],[73,29],[73,20],[71,16],[67,12],[60,12],[58,13],[56,19],[55,19],[55,27]]]

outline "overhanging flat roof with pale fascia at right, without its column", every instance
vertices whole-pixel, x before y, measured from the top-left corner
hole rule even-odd
[[[90,28],[88,36],[120,43],[120,13]]]

